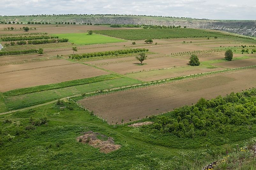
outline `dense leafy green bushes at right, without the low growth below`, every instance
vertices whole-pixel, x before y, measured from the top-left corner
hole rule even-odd
[[[201,98],[195,105],[149,119],[154,121],[150,129],[182,138],[206,136],[212,131],[224,134],[236,131],[234,128],[238,130],[240,126],[255,126],[256,89],[211,100]]]

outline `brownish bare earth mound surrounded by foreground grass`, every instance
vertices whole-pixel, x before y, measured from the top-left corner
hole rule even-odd
[[[98,135],[100,135],[102,138],[106,138],[107,136],[101,135],[100,133],[95,133],[92,131],[88,131],[84,133],[84,135],[81,135],[77,137],[78,142],[82,143],[88,143],[89,145],[95,147],[95,148],[100,148],[100,152],[103,153],[109,153],[112,151],[115,151],[121,147],[121,145],[116,145],[114,143],[113,138],[108,137],[106,141],[98,139]]]

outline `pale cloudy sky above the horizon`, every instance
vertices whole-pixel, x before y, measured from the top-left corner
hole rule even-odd
[[[136,14],[256,20],[255,0],[1,0],[0,15]]]

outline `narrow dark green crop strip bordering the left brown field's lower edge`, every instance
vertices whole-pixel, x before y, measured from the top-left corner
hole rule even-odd
[[[65,81],[65,82],[50,84],[50,85],[39,85],[34,87],[15,89],[8,92],[4,92],[3,94],[5,96],[18,96],[18,95],[27,94],[27,93],[42,92],[42,91],[52,90],[52,89],[61,89],[64,87],[70,87],[75,85],[85,85],[89,83],[95,83],[95,82],[100,82],[100,81],[110,80],[115,78],[120,78],[120,76],[116,74],[102,75],[102,76],[97,76],[92,78]]]

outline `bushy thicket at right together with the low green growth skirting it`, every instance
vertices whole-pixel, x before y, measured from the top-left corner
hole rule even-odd
[[[237,142],[256,135],[256,89],[231,93],[149,118],[153,125],[132,133],[138,139],[173,148]]]

